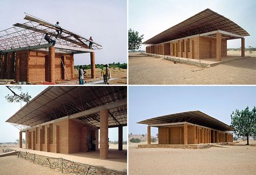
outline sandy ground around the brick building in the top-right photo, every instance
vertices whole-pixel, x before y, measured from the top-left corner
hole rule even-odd
[[[238,53],[232,51],[232,54]],[[205,69],[154,57],[129,57],[129,84],[256,84],[255,77],[256,53],[255,57]]]

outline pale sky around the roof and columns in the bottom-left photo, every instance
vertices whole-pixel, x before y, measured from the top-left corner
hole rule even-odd
[[[28,92],[29,95],[34,98],[40,92],[42,92],[47,86],[42,85],[23,85],[22,92]],[[19,92],[15,90],[16,92]],[[14,115],[19,109],[21,109],[21,103],[8,103],[7,100],[4,98],[6,95],[10,94],[11,92],[3,85],[0,86],[0,143],[5,142],[16,142],[16,139],[19,138],[19,129],[15,126],[11,125],[10,123],[6,123],[5,121],[9,119],[12,115]],[[31,98],[31,99],[32,99]],[[25,103],[22,103],[22,107]],[[117,141],[118,140],[118,127],[110,128],[108,130],[109,140],[110,141]],[[100,133],[100,132],[99,132]],[[25,138],[25,133],[23,133],[23,138]],[[127,126],[123,127],[123,140],[127,141]]]

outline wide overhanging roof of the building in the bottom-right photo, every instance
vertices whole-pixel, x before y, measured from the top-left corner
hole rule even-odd
[[[155,118],[150,118],[143,120],[141,122],[137,122],[139,124],[167,124],[167,123],[180,123],[180,122],[188,122],[200,126],[210,127],[212,129],[220,130],[220,131],[232,131],[233,128],[220,120],[217,120],[201,111],[188,111],[181,113],[174,113],[171,115],[160,116]]]

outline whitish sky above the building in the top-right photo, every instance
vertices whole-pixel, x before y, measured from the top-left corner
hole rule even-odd
[[[138,31],[139,35],[143,34],[142,42],[145,42],[207,8],[231,19],[245,29],[251,35],[245,37],[245,47],[256,47],[256,1],[254,0],[129,0],[128,28]],[[227,48],[240,48],[240,46],[241,39],[227,41]],[[141,49],[145,50],[145,45],[142,45]]]

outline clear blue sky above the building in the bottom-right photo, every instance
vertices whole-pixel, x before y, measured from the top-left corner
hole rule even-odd
[[[146,134],[145,119],[201,111],[228,125],[231,113],[256,106],[256,86],[129,86],[128,133]],[[157,127],[151,127],[156,136]]]

